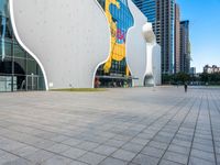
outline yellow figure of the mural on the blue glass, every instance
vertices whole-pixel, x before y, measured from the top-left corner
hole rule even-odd
[[[118,9],[120,9],[120,3],[117,0],[106,0],[106,16],[108,19],[108,22],[110,24],[111,29],[111,55],[108,58],[107,63],[103,66],[105,73],[109,73],[111,68],[112,59],[114,61],[122,61],[125,57],[125,44],[119,44],[117,43],[117,23],[113,22],[112,15],[109,11],[109,6],[114,4]],[[127,72],[129,75],[129,72]]]

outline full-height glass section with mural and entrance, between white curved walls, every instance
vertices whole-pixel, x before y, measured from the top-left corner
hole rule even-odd
[[[131,84],[131,74],[127,66],[127,32],[134,20],[127,0],[98,0],[111,29],[111,54],[107,63],[98,68],[95,86],[124,86]]]

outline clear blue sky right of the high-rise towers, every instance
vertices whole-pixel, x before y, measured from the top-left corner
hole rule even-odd
[[[190,21],[191,67],[220,67],[220,0],[176,0],[182,20]]]

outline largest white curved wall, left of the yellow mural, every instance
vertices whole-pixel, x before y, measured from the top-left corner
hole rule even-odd
[[[43,65],[50,88],[94,87],[110,40],[95,0],[11,0],[10,6],[16,37]]]

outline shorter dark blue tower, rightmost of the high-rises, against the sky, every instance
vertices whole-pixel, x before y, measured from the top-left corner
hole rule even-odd
[[[180,22],[180,72],[190,70],[189,21]]]

